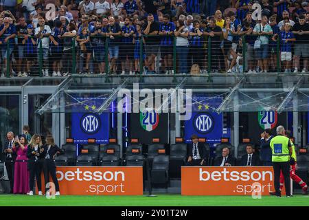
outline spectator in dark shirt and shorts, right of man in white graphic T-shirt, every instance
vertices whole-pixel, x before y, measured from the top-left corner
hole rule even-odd
[[[61,58],[63,54],[63,40],[62,34],[64,34],[61,21],[56,21],[55,28],[52,34],[49,36],[51,42],[50,52],[51,52],[51,61],[53,62],[53,74],[52,76],[62,76],[60,73],[61,70]]]

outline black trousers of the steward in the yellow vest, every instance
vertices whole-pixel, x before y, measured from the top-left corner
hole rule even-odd
[[[280,192],[280,171],[284,175],[284,186],[286,195],[290,196],[290,162],[273,162],[274,184],[276,195],[281,196]]]

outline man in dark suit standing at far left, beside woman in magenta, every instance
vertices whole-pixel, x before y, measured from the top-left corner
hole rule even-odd
[[[14,186],[14,179],[13,179],[13,171],[14,171],[14,162],[16,159],[16,153],[12,151],[13,144],[14,144],[14,133],[12,131],[6,134],[7,141],[4,143],[3,146],[3,153],[4,153],[4,165],[6,168],[6,173],[8,173],[8,179],[10,181],[10,193],[13,193],[13,186]]]

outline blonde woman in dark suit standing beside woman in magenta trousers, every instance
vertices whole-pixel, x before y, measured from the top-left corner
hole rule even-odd
[[[34,177],[36,177],[36,184],[38,186],[38,195],[42,195],[42,184],[41,184],[41,173],[42,173],[42,163],[41,163],[41,153],[43,152],[43,144],[41,136],[34,134],[27,147],[27,157],[28,169],[30,172],[30,192],[29,195],[33,195],[34,187]]]

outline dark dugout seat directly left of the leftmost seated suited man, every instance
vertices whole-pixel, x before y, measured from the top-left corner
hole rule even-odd
[[[170,177],[181,177],[181,166],[185,164],[187,157],[187,144],[176,143],[170,146]]]

